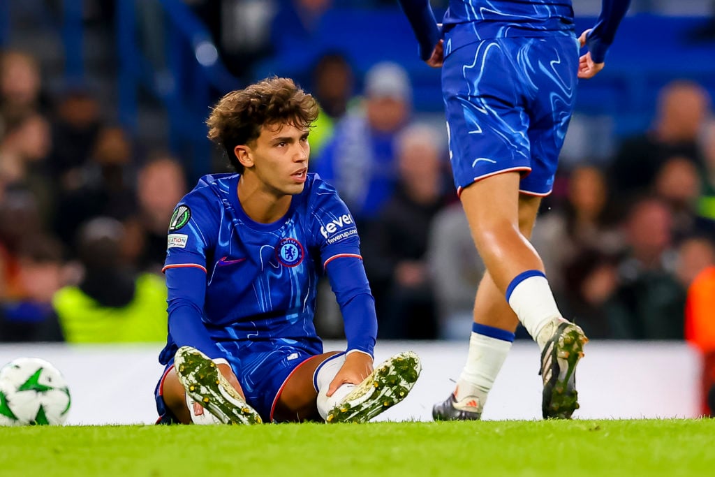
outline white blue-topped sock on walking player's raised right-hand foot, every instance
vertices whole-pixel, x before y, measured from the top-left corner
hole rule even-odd
[[[515,280],[518,280],[516,277]],[[509,285],[511,288],[511,285]],[[561,321],[561,312],[553,298],[551,286],[542,274],[532,275],[518,282],[508,295],[511,309],[529,332],[529,335],[543,349],[552,333],[541,333],[548,323]]]

